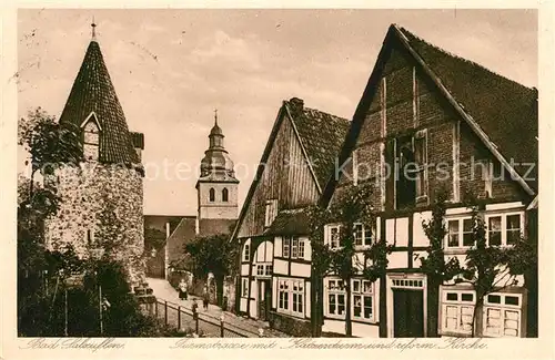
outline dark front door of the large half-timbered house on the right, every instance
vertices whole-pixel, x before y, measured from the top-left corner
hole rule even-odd
[[[393,337],[424,337],[424,294],[422,290],[393,289]]]

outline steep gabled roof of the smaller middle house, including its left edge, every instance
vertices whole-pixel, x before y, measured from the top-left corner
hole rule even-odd
[[[349,121],[315,109],[305,107],[304,102],[297,97],[283,101],[278,112],[272,132],[270,133],[270,138],[262,153],[256,174],[249,188],[243,207],[241,208],[238,223],[231,235],[231,240],[235,238],[241,227],[259,181],[262,178],[265,168],[264,164],[268,162],[281,124],[286,119],[289,119],[294,128],[296,138],[301,144],[302,152],[320,193],[322,193],[323,186],[326,184],[330,173],[333,169],[335,158],[339,156],[339,151],[349,131]]]

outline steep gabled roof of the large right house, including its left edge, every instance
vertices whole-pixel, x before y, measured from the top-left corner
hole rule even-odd
[[[349,158],[355,146],[393,43],[401,44],[408,52],[513,179],[527,194],[534,195],[537,189],[538,158],[537,91],[441,50],[395,24],[390,27],[383,41],[342,146],[340,163]],[[534,164],[533,174],[528,174],[533,178],[525,181],[523,177],[528,166],[515,163]],[[321,197],[322,205],[327,204],[337,182],[329,177]]]

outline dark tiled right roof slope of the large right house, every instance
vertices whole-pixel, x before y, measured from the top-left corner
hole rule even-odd
[[[509,163],[513,160],[517,164],[536,164],[531,176],[537,178],[537,90],[451,54],[406,29],[400,30],[501,154]],[[528,166],[515,165],[514,168],[523,176]],[[525,181],[537,189],[537,181]]]

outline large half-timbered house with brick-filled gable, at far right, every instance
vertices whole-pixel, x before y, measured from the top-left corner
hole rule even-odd
[[[442,286],[438,313],[428,311],[427,279],[418,257],[426,256],[430,243],[422,222],[431,218],[437,193],[446,191],[444,251],[464,264],[472,244],[463,197],[473,193],[485,204],[488,245],[511,246],[526,233],[526,208],[537,192],[536,138],[535,89],[390,27],[341,150],[344,172],[326,183],[322,196],[329,204],[343,186],[373,182],[376,224],[367,226],[371,229],[361,225],[356,236],[361,248],[375,238],[394,246],[380,280],[372,284],[361,277],[351,285],[353,336],[426,337],[436,330],[471,335],[476,302],[471,286]],[[327,226],[331,247],[340,246],[336,234]],[[329,277],[323,285],[323,330],[345,333],[343,284]],[[536,322],[527,317],[537,313],[526,309],[529,287],[523,285],[521,279],[486,297],[477,333],[527,335],[526,323]],[[437,322],[430,321],[432,316]]]

